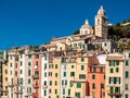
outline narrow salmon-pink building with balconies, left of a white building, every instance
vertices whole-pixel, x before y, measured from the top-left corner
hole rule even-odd
[[[40,98],[41,95],[41,53],[39,49],[32,52],[32,98]]]

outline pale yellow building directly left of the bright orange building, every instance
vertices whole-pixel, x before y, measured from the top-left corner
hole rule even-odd
[[[70,62],[68,64],[67,70],[68,97],[83,98],[86,96],[87,89],[88,58],[70,58]]]

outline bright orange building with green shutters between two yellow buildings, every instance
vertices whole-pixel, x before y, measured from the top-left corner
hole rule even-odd
[[[98,63],[89,64],[87,95],[92,98],[105,98],[105,64],[102,60],[98,60]]]

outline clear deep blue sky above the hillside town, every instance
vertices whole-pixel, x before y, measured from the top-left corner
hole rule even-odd
[[[0,0],[0,49],[72,35],[104,7],[109,23],[130,19],[130,0]]]

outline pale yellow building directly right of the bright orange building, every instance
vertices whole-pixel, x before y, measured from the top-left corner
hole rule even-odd
[[[121,98],[122,96],[122,54],[108,54],[106,59],[106,94],[105,98]]]

